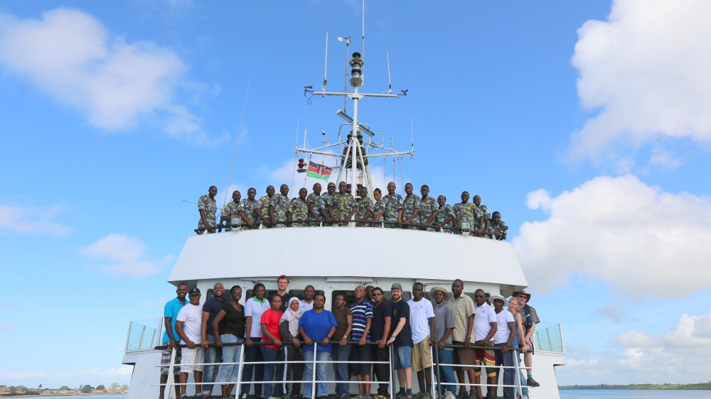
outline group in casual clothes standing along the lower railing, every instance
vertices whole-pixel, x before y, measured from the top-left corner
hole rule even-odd
[[[391,349],[399,383],[393,389],[394,399],[432,399],[433,364],[439,368],[437,390],[442,398],[496,398],[499,366],[504,366],[503,397],[514,399],[515,369],[511,366],[518,361],[519,350],[528,370],[528,378],[520,376],[523,399],[528,399],[526,385],[538,386],[531,374],[531,336],[540,319],[527,304],[530,294],[523,290],[513,293],[504,310],[507,301],[501,295],[488,296],[479,289],[472,300],[464,295],[461,280],[451,284],[451,295],[446,288],[432,288],[434,304],[424,298],[422,283],[412,286],[408,301],[402,299],[399,283],[390,287],[392,301],[385,300],[383,288],[358,285],[353,303],[347,305],[346,296],[337,294],[335,307],[329,311],[326,297],[312,285],[304,288],[303,299],[290,294],[288,285],[289,278],[280,276],[277,292],[267,298],[264,285],[257,283],[252,297],[241,305],[239,285],[230,289],[228,298],[223,284],[216,283],[213,297],[201,305],[198,288],[188,290],[186,284],[179,284],[177,297],[165,306],[160,398],[164,398],[171,373],[173,350],[175,381],[186,384],[188,374],[193,373],[196,399],[209,399],[215,383],[221,384],[222,398],[234,399],[242,348],[240,399],[247,398],[252,383],[255,399],[282,399],[287,394],[290,398],[326,398],[327,383],[316,383],[313,395],[311,383],[299,382],[311,381],[314,373],[316,381],[326,381],[326,363],[314,367],[314,359],[332,361],[338,381],[336,398],[350,398],[348,384],[355,376],[359,399],[385,399],[390,391]],[[433,361],[433,351],[439,361]],[[284,360],[306,362],[289,363],[285,370]],[[485,383],[481,382],[482,370]],[[419,383],[417,395],[412,393],[413,373]],[[378,381],[374,395],[370,393],[372,377]],[[486,385],[486,396],[482,385]],[[186,385],[176,386],[176,395],[186,399]]]

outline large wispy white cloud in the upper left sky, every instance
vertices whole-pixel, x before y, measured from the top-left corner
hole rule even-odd
[[[201,120],[175,99],[188,69],[181,59],[154,43],[128,43],[82,11],[54,9],[40,19],[0,13],[0,67],[100,129],[122,131],[153,116],[170,136],[208,141]]]

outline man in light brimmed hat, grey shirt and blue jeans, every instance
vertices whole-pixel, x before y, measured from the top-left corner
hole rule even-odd
[[[429,290],[429,294],[434,297],[434,337],[432,338],[437,350],[435,359],[438,364],[453,364],[452,349],[444,347],[444,345],[451,345],[451,332],[454,329],[454,312],[451,310],[451,305],[447,303],[449,292],[445,288],[434,287]],[[456,383],[452,366],[439,366],[439,383]],[[440,398],[444,399],[454,399],[455,392],[456,386],[453,385],[440,385],[437,388]]]

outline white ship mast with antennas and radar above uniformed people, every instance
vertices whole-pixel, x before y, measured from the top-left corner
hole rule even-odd
[[[326,33],[326,40],[328,40],[328,32]],[[346,104],[346,101],[348,99],[351,99],[351,102],[353,102],[353,116],[349,116],[346,114],[346,110],[343,109],[338,109],[336,111],[336,115],[340,116],[341,118],[345,119],[347,121],[346,124],[341,125],[343,126],[348,126],[348,129],[350,129],[350,132],[348,133],[348,138],[346,138],[346,141],[341,141],[340,135],[338,136],[339,140],[338,143],[326,143],[326,146],[321,146],[319,148],[313,148],[309,149],[306,148],[306,140],[304,139],[304,146],[302,148],[296,148],[296,153],[297,155],[299,153],[309,153],[309,154],[319,154],[319,155],[326,155],[326,156],[332,156],[335,158],[340,158],[340,168],[338,171],[338,180],[336,181],[336,184],[338,182],[341,182],[344,180],[344,177],[348,175],[347,170],[348,168],[351,169],[350,173],[350,186],[351,186],[351,192],[353,193],[354,196],[358,195],[358,192],[356,190],[356,187],[358,187],[358,182],[356,182],[356,177],[358,177],[358,172],[362,174],[361,176],[363,177],[363,186],[368,190],[368,194],[372,195],[373,189],[373,178],[370,175],[370,167],[368,165],[368,158],[376,158],[376,157],[397,157],[401,155],[410,155],[410,157],[413,157],[415,155],[414,151],[414,146],[413,148],[410,149],[410,151],[395,151],[391,148],[386,148],[383,145],[378,145],[377,143],[373,142],[373,136],[375,136],[375,133],[371,131],[370,126],[368,124],[365,124],[363,122],[360,122],[359,115],[358,115],[358,104],[361,99],[365,99],[366,97],[384,97],[384,98],[398,98],[407,95],[407,90],[402,90],[400,94],[392,94],[392,86],[390,86],[387,90],[387,93],[364,93],[360,92],[360,88],[363,86],[363,58],[361,57],[360,53],[357,51],[353,53],[351,60],[348,60],[348,46],[351,44],[351,38],[338,38],[339,41],[346,41],[346,80],[347,82],[353,87],[353,91],[349,92],[347,89],[347,85],[343,88],[343,92],[326,92],[326,76],[324,74],[324,82],[321,85],[321,91],[316,92],[314,91],[313,86],[306,86],[304,87],[304,96],[307,94],[311,94],[311,97],[313,96],[321,96],[321,97],[326,97],[326,96],[338,96],[338,97],[343,97],[343,102],[344,105]],[[327,42],[328,43],[328,42]],[[326,46],[326,55],[328,55],[328,45]],[[348,65],[351,66],[351,73],[348,74]],[[348,76],[350,76],[350,79],[348,79]],[[390,65],[388,65],[388,80],[390,80]],[[368,141],[363,141],[363,133],[365,135],[370,136]],[[340,147],[343,148],[341,153],[333,153],[329,151],[324,151],[327,148],[333,148],[333,147]],[[374,151],[378,150],[380,152]],[[302,170],[299,170],[302,171]],[[305,170],[303,170],[305,171]]]

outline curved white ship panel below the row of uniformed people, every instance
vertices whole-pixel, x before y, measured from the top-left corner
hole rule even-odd
[[[434,231],[286,227],[191,236],[169,281],[299,275],[454,280],[528,286],[505,241]]]

